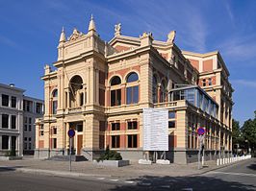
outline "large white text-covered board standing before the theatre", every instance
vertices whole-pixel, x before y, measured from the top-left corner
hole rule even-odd
[[[168,110],[143,108],[143,151],[168,151]]]

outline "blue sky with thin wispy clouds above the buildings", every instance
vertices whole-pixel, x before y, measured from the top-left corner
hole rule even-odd
[[[235,89],[233,115],[243,124],[256,110],[255,10],[254,0],[0,0],[0,83],[13,83],[42,99],[43,66],[57,60],[62,27],[66,36],[74,27],[86,33],[93,13],[104,40],[121,22],[126,36],[146,31],[166,40],[176,30],[175,43],[182,50],[219,50]]]

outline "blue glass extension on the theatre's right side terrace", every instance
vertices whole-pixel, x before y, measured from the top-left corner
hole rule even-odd
[[[218,104],[196,85],[172,89],[169,96],[171,101],[187,100],[194,107],[199,107],[213,117],[217,117]]]

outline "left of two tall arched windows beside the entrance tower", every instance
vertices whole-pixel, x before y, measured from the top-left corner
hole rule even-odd
[[[111,80],[111,106],[121,105],[121,79],[117,76]]]

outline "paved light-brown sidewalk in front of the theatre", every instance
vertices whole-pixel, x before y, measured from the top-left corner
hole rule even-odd
[[[206,161],[204,168],[198,170],[197,163],[187,165],[132,164],[115,168],[93,165],[91,161],[81,161],[72,162],[72,172],[69,172],[69,161],[41,160],[25,157],[22,160],[0,161],[0,169],[5,168],[17,172],[47,174],[60,177],[111,177],[116,179],[134,179],[143,176],[195,176],[236,163],[217,166],[216,161]]]

